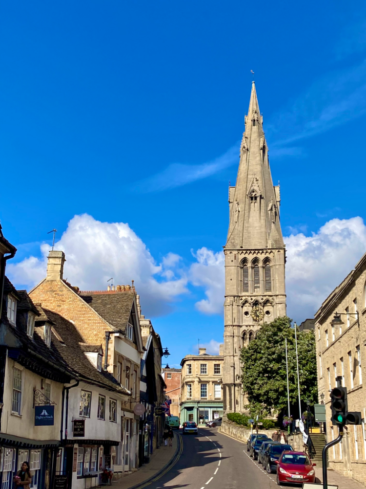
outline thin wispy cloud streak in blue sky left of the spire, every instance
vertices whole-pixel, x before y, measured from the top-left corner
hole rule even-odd
[[[200,165],[172,163],[161,173],[138,181],[133,189],[142,193],[160,192],[210,177],[237,163],[239,161],[239,149],[240,143],[238,142],[224,155]]]

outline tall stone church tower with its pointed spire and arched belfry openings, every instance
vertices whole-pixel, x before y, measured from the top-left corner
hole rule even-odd
[[[280,187],[273,186],[254,81],[224,246],[224,411],[244,412],[240,351],[260,324],[286,314]]]

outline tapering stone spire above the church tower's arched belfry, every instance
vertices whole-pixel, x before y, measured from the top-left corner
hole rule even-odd
[[[274,187],[254,81],[235,187],[229,188],[230,222],[226,249],[283,248],[280,188]]]

